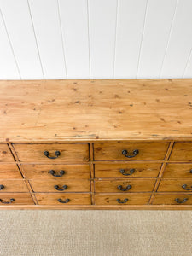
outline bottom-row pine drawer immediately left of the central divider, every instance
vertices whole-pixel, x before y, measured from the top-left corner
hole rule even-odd
[[[90,194],[39,193],[36,194],[39,205],[90,205]]]

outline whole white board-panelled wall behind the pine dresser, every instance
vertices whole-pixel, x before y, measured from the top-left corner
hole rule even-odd
[[[0,79],[192,78],[192,0],[0,0]]]

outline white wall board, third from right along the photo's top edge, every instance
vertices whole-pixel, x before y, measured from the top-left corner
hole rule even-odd
[[[120,0],[118,3],[114,77],[136,78],[139,49],[147,0]]]

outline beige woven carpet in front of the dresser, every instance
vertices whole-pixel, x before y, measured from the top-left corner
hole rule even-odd
[[[192,255],[190,211],[0,211],[0,255]]]

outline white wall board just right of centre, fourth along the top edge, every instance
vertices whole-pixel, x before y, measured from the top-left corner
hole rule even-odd
[[[113,79],[117,0],[88,0],[90,77]]]

